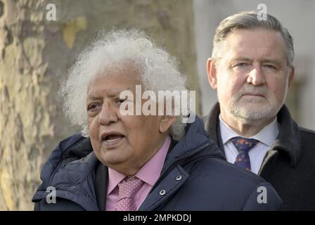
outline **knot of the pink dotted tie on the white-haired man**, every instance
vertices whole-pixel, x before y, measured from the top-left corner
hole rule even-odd
[[[118,184],[119,188],[119,198],[134,198],[134,195],[140,190],[143,185],[141,179],[136,178],[135,176],[131,179],[124,179]]]

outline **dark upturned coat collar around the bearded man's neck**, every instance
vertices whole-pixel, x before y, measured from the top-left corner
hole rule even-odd
[[[216,103],[210,113],[203,118],[205,129],[209,132],[214,141],[222,146],[219,132],[217,130],[219,124],[220,105]],[[293,167],[297,166],[302,153],[302,140],[300,130],[295,121],[292,119],[286,105],[279,110],[277,120],[280,124],[279,134],[276,137],[274,145],[271,149],[283,151],[290,156],[290,162]]]

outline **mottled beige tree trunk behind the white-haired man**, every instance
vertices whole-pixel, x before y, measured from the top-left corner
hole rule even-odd
[[[47,4],[56,20],[47,20]],[[98,30],[128,27],[179,60],[200,113],[192,0],[0,0],[0,210],[32,210],[42,164],[78,131],[57,94],[77,52]]]

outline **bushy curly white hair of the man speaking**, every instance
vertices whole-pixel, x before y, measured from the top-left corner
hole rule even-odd
[[[59,90],[65,116],[71,124],[82,128],[82,136],[89,136],[86,112],[89,82],[96,75],[120,69],[124,63],[134,66],[144,89],[154,91],[156,96],[158,91],[187,90],[186,76],[179,72],[175,58],[155,46],[146,34],[138,30],[100,32],[79,54]],[[186,124],[181,122],[182,117],[177,116],[169,129],[169,134],[177,141],[185,134]]]

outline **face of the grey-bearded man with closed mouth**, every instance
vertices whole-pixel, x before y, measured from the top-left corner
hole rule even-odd
[[[210,65],[207,68],[214,78],[209,74],[210,84],[218,92],[221,113],[245,122],[274,118],[294,74],[292,70],[288,75],[281,33],[235,30],[227,34],[220,53],[215,70],[210,71]]]

